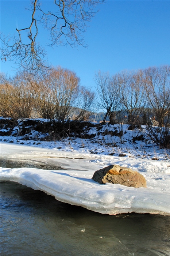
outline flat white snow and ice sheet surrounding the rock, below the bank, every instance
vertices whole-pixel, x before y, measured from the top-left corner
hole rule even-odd
[[[50,150],[1,143],[2,158],[37,159],[68,170],[1,168],[1,181],[16,181],[40,189],[62,202],[103,214],[127,212],[170,215],[170,162],[152,159],[114,157]],[[128,188],[118,184],[98,184],[91,180],[101,167],[119,164],[138,170],[147,180],[147,188]],[[49,168],[50,169],[50,168]]]

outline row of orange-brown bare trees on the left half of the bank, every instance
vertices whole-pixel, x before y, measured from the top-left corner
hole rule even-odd
[[[76,74],[61,67],[39,77],[25,72],[12,79],[0,75],[0,115],[13,118],[33,116],[53,124],[68,118],[87,120],[93,110],[94,93],[80,86]]]

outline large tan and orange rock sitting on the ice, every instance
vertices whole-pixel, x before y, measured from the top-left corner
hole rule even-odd
[[[146,188],[146,179],[142,174],[120,165],[109,165],[93,174],[92,180],[100,184],[106,182],[121,184],[127,187]]]

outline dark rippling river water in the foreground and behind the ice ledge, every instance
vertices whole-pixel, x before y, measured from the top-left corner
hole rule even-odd
[[[49,169],[23,160],[0,166]],[[0,182],[0,199],[1,256],[170,256],[170,216],[100,214],[16,182]]]

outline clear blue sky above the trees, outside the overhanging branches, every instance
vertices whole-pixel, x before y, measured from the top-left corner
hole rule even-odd
[[[48,5],[49,1],[43,0]],[[0,0],[1,33],[13,35],[16,27],[30,25],[28,0]],[[81,84],[94,88],[94,73],[111,74],[124,69],[139,69],[170,64],[170,0],[107,0],[88,23],[85,41],[88,48],[46,47],[48,59],[76,72]],[[42,33],[42,34],[41,34]],[[40,44],[47,35],[40,30]],[[0,62],[0,71],[15,74],[12,61]]]

